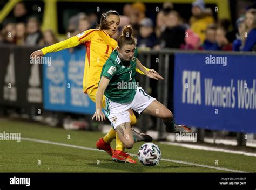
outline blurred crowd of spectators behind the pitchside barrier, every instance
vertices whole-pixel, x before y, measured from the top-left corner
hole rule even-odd
[[[231,3],[232,1],[230,1]],[[41,30],[42,14],[38,6],[31,8],[24,2],[15,5],[11,15],[0,27],[0,44],[49,46],[85,30],[95,28],[102,12],[79,12],[58,25],[66,35],[61,38],[51,29]],[[239,15],[232,20],[219,19],[218,7],[207,7],[203,0],[191,4],[190,18],[176,10],[171,2],[161,4],[156,13],[147,11],[143,2],[124,4],[117,39],[122,26],[131,24],[137,38],[137,47],[179,48],[182,50],[256,50],[256,2],[239,8]],[[117,10],[118,11],[118,10]]]

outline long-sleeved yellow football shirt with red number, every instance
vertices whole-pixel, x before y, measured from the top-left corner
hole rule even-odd
[[[102,67],[112,51],[117,47],[117,41],[103,30],[90,29],[77,36],[45,47],[42,49],[42,52],[45,55],[49,52],[64,50],[65,48],[75,47],[79,44],[86,46],[83,90],[84,93],[87,93],[88,88],[98,84]],[[137,69],[137,72],[144,74],[139,69]]]

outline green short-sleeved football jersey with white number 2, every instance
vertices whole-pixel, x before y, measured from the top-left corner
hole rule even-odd
[[[103,65],[100,78],[105,76],[110,80],[104,95],[112,102],[132,102],[137,89],[134,78],[137,57],[137,48],[135,48],[134,56],[130,61],[121,60],[118,51],[114,50]]]

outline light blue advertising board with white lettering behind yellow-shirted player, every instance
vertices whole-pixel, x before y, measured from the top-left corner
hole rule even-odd
[[[95,103],[83,93],[85,48],[48,53],[43,65],[44,108],[50,111],[93,114]]]

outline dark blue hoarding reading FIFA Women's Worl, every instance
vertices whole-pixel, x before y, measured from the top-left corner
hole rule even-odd
[[[256,133],[256,56],[176,53],[176,123]]]

